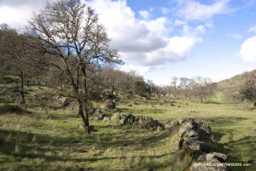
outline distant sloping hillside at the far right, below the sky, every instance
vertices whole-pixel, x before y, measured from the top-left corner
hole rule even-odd
[[[245,83],[248,77],[256,76],[256,70],[246,71],[240,75],[230,77],[218,83],[218,94],[222,96],[223,100],[236,101],[238,100],[239,89]]]

